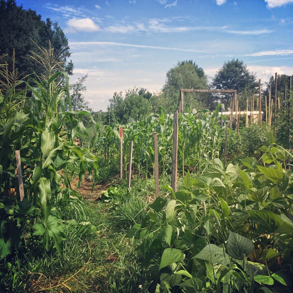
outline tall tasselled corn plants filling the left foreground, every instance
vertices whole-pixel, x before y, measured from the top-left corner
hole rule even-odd
[[[94,181],[98,176],[96,156],[74,144],[76,136],[88,136],[82,117],[90,114],[72,111],[68,76],[58,71],[60,56],[52,48],[40,50],[44,57],[34,59],[47,69],[47,78],[19,81],[5,95],[0,93],[0,261],[15,251],[33,252],[39,245],[46,253],[56,249],[61,254],[64,204],[83,214],[77,198],[62,200],[64,188],[70,186],[64,170],[69,163],[78,168],[77,188],[86,171]],[[23,84],[26,91],[18,92]],[[23,201],[16,150],[21,154]]]

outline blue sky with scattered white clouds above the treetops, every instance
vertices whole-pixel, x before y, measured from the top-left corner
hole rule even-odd
[[[86,100],[106,110],[115,91],[159,92],[166,72],[192,59],[212,78],[239,58],[262,83],[293,74],[293,0],[16,0],[68,38]]]

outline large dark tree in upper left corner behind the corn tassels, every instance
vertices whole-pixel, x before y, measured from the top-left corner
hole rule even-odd
[[[8,64],[8,71],[12,70],[14,49],[14,67],[20,75],[35,73],[42,76],[44,68],[30,55],[31,52],[40,54],[38,46],[47,48],[50,40],[54,54],[62,55],[64,70],[72,74],[72,62],[66,63],[70,56],[68,40],[58,23],[52,23],[49,18],[42,21],[36,11],[17,6],[15,0],[0,0],[0,27],[0,52],[5,54],[1,63]]]

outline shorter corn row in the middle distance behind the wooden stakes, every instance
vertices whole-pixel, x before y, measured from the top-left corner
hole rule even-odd
[[[189,167],[203,171],[209,161],[221,154],[225,129],[218,123],[220,106],[214,113],[208,110],[193,113],[187,108],[187,113],[179,114],[178,165],[181,171]],[[132,163],[138,173],[147,173],[154,168],[155,132],[158,133],[160,173],[171,171],[173,115],[160,108],[159,113],[151,113],[144,120],[122,125],[124,173],[131,140],[134,142]],[[97,134],[96,149],[115,162],[120,158],[120,126],[106,126],[103,132]]]

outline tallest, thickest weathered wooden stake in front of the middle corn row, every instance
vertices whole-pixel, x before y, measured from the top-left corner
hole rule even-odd
[[[174,192],[177,191],[177,165],[178,165],[178,112],[174,111],[173,119],[173,147],[172,147],[172,171],[171,171],[171,187]],[[171,196],[171,199],[173,197]]]

